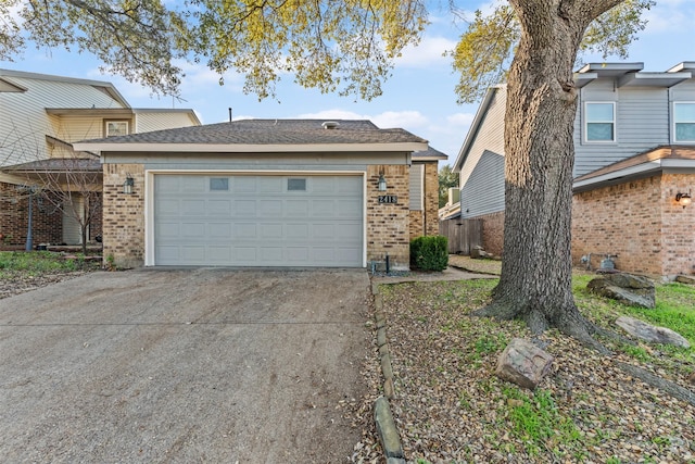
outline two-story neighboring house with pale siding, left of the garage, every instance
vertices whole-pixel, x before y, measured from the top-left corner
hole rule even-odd
[[[193,125],[192,110],[134,109],[108,81],[0,70],[1,243],[25,243],[29,210],[35,243],[101,234],[101,162],[75,141]]]

